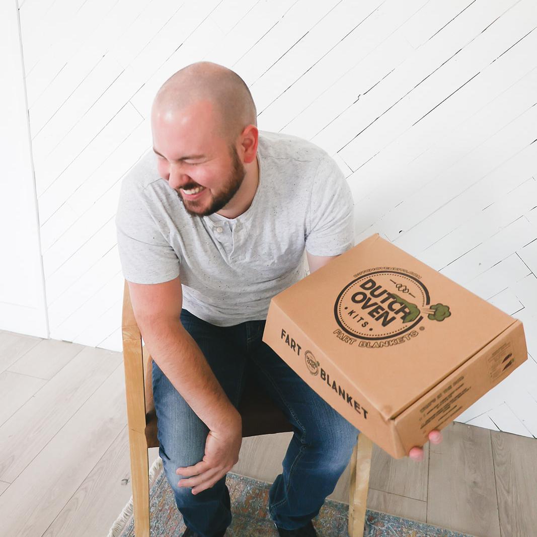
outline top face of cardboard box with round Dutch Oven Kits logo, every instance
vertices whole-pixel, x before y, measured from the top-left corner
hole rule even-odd
[[[272,300],[386,420],[516,321],[379,234]]]

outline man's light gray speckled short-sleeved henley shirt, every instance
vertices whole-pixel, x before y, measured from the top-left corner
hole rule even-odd
[[[231,326],[264,320],[271,298],[307,275],[304,248],[354,246],[354,203],[342,170],[300,137],[259,130],[259,184],[236,218],[192,216],[159,177],[149,149],[122,179],[115,224],[123,275],[138,284],[180,277],[183,308]]]

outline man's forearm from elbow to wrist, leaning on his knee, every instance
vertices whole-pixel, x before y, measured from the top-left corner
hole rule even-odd
[[[209,430],[241,419],[200,347],[179,321],[146,323],[142,337],[158,367]]]

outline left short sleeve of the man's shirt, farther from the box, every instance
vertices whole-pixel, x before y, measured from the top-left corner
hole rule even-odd
[[[160,284],[179,275],[180,259],[151,215],[143,188],[126,176],[115,216],[121,269],[127,281]]]

